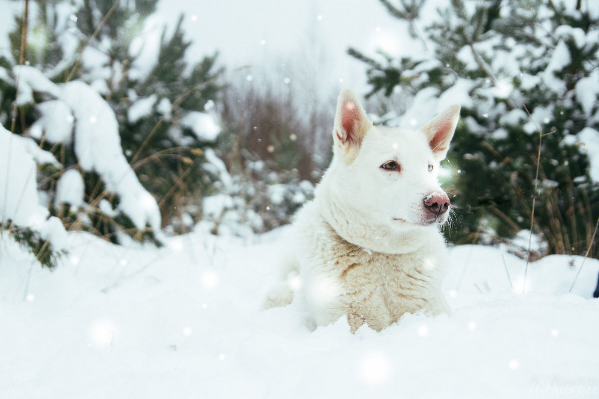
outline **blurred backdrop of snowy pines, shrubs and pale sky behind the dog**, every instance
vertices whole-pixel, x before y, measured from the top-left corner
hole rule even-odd
[[[249,237],[290,223],[328,166],[337,95],[350,87],[389,126],[415,128],[461,103],[441,176],[455,205],[450,242],[597,257],[595,2],[0,5],[0,123],[58,161],[38,162],[37,190],[67,230],[160,242],[156,226],[123,211],[102,170],[85,166],[77,114],[55,123],[60,99],[41,78],[20,79],[21,66],[59,87],[80,81],[110,106],[167,234]],[[2,229],[46,248],[7,217]]]

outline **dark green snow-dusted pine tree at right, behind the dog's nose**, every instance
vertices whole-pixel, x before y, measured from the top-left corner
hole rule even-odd
[[[582,144],[599,138],[599,13],[581,2],[452,0],[434,16],[423,0],[380,1],[423,50],[397,59],[350,48],[368,65],[370,95],[412,98],[406,114],[462,102],[449,239],[513,237],[531,228],[534,199],[548,251],[583,254],[599,217]]]

